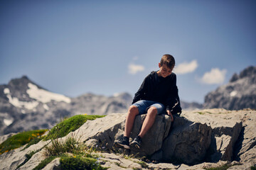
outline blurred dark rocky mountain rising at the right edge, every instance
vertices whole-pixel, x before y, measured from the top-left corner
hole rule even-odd
[[[228,84],[205,96],[204,108],[240,110],[256,108],[256,67],[247,67],[234,74]]]

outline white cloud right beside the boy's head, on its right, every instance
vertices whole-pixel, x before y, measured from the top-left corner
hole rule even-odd
[[[181,64],[178,64],[177,67],[174,67],[174,72],[176,74],[186,74],[190,73],[196,70],[198,67],[198,63],[196,60],[193,60],[192,62],[183,62]]]

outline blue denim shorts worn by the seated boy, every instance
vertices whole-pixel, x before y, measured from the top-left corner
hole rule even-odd
[[[146,114],[146,112],[149,110],[150,107],[155,107],[157,109],[157,114],[160,115],[164,113],[165,106],[162,103],[156,102],[156,101],[137,101],[136,103],[133,103],[132,106],[136,106],[139,110],[139,115]]]

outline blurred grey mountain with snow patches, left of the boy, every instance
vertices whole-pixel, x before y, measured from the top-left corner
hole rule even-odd
[[[11,79],[0,86],[0,135],[52,128],[61,119],[78,114],[125,113],[131,102],[127,93],[69,98],[43,89],[26,76]]]

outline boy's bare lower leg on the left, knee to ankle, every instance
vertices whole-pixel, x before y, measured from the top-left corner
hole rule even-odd
[[[124,136],[129,137],[130,133],[132,132],[132,127],[134,124],[134,119],[136,115],[139,114],[139,109],[136,106],[130,106],[127,118],[125,120],[125,128],[124,128]]]

